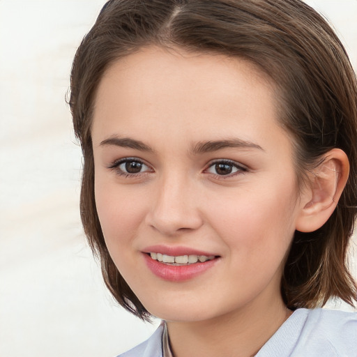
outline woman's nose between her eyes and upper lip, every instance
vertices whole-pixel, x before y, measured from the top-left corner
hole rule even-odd
[[[153,204],[146,215],[146,224],[165,236],[193,231],[203,225],[197,187],[187,178],[172,176],[157,183]]]

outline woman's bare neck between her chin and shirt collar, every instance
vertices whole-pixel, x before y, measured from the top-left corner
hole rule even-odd
[[[204,321],[167,321],[174,357],[251,357],[290,316],[284,303],[245,306]],[[197,353],[199,351],[199,353]]]

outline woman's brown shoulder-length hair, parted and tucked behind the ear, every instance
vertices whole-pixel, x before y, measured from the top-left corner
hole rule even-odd
[[[357,203],[357,84],[348,56],[321,15],[300,0],[110,0],[79,46],[70,109],[84,154],[81,216],[105,284],[138,317],[151,315],[109,256],[94,197],[91,121],[96,89],[112,63],[149,45],[245,59],[275,84],[280,124],[294,145],[298,182],[323,155],[342,149],[350,176],[326,224],[296,231],[282,276],[287,307],[317,307],[333,296],[354,304],[347,267]]]

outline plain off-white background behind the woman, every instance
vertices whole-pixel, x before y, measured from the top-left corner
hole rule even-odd
[[[82,159],[65,94],[104,3],[0,0],[0,356],[115,356],[158,324],[115,305],[79,221]],[[357,0],[308,3],[357,68]],[[351,264],[357,275],[353,252]]]

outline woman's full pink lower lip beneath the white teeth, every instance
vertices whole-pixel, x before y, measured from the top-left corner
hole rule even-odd
[[[215,258],[205,261],[204,263],[197,262],[195,264],[176,266],[152,259],[145,253],[144,259],[146,261],[146,265],[156,276],[171,282],[183,282],[185,280],[195,278],[197,275],[208,271],[208,269],[212,268],[212,266],[218,261],[218,258]]]

